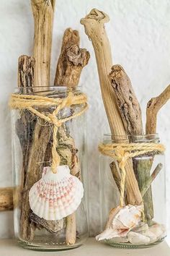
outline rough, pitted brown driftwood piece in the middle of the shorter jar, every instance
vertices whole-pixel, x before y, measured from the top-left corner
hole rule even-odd
[[[128,135],[143,135],[143,124],[140,105],[135,96],[133,86],[130,82],[128,74],[120,65],[112,66],[112,71],[109,73],[109,80],[112,88],[115,91],[117,106],[120,109],[122,121],[125,131]],[[138,139],[137,139],[138,140]],[[132,141],[131,141],[132,142]],[[139,188],[147,182],[150,177],[152,161],[133,159],[133,169],[138,180]],[[145,170],[145,171],[143,171]],[[148,189],[143,197],[144,213],[146,221],[151,221],[153,218],[153,200],[151,188]]]

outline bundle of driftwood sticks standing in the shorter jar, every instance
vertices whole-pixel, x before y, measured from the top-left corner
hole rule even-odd
[[[104,107],[109,121],[111,133],[120,137],[133,137],[144,133],[151,135],[156,133],[156,116],[159,109],[170,98],[170,85],[157,98],[152,98],[147,105],[146,132],[143,130],[140,104],[135,96],[133,86],[128,74],[120,65],[112,64],[112,54],[104,29],[104,23],[109,22],[109,17],[104,12],[92,9],[91,12],[81,19],[85,27],[86,35],[91,39],[97,60],[100,88]],[[130,136],[128,136],[130,135]],[[148,223],[153,219],[153,198],[151,187],[144,194],[141,193],[143,186],[151,181],[151,166],[153,160],[138,161],[128,160],[126,171],[126,203],[140,205],[143,201],[145,218]],[[120,174],[117,173],[115,163],[110,165],[112,174],[119,188]]]

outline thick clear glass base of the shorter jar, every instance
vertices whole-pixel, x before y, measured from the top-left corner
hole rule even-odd
[[[130,244],[128,243],[114,243],[109,242],[109,240],[104,240],[105,244],[109,244],[112,247],[120,248],[120,249],[142,249],[142,248],[148,248],[153,247],[156,244],[159,244],[164,241],[164,238],[158,239],[156,242],[148,243],[148,244]]]

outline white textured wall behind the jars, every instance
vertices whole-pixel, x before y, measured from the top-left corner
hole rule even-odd
[[[99,90],[97,67],[91,42],[79,20],[92,8],[109,14],[107,33],[112,45],[115,64],[128,72],[143,109],[145,121],[146,103],[161,93],[170,82],[170,1],[169,0],[57,0],[54,32],[51,85],[55,64],[61,47],[63,30],[78,29],[81,46],[90,51],[91,59],[81,75],[81,85],[89,95],[88,148],[90,184],[91,234],[99,223],[98,209],[98,152],[97,144],[107,127]],[[32,54],[33,20],[28,0],[1,0],[0,7],[0,187],[12,185],[11,131],[7,101],[17,87],[17,58]],[[158,116],[158,133],[166,144],[167,189],[169,189],[170,165],[170,114],[169,103]],[[93,185],[92,185],[93,184]],[[170,200],[167,200],[169,208]],[[170,212],[169,212],[170,216]],[[0,237],[12,236],[12,213],[0,213]]]

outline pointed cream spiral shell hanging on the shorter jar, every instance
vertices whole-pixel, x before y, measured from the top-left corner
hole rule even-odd
[[[97,241],[125,237],[128,232],[138,225],[143,211],[143,205],[118,206],[109,213],[106,229],[96,236]]]

